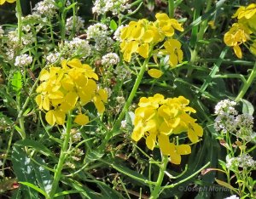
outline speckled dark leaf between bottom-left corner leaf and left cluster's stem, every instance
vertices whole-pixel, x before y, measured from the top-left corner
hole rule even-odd
[[[40,165],[42,165],[38,167],[38,164],[34,163],[35,174],[38,181],[38,185],[42,190],[44,190],[45,193],[49,194],[49,191],[51,190],[52,183],[53,183],[53,176],[50,175],[49,170],[43,167],[43,166],[47,166],[44,162],[44,159],[37,156],[35,158],[35,161],[37,161]]]

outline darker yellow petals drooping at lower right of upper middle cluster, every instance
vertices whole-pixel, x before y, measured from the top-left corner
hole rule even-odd
[[[174,67],[178,63],[183,61],[183,51],[181,50],[181,43],[177,39],[168,39],[164,43],[166,51],[163,51],[165,54],[169,55],[169,64]]]

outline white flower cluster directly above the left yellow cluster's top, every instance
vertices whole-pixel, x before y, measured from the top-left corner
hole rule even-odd
[[[60,44],[61,54],[67,57],[79,56],[86,58],[90,55],[91,48],[88,41],[80,39],[79,37],[73,38],[72,41],[65,41],[64,45]]]

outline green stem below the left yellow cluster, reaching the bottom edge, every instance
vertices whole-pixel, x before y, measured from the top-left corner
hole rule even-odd
[[[68,143],[69,143],[69,139],[70,139],[71,128],[72,128],[72,118],[71,118],[71,113],[68,113],[67,114],[67,128],[66,128],[65,138],[64,138],[64,142],[61,146],[61,155],[59,157],[59,162],[58,162],[57,168],[55,169],[55,176],[54,176],[54,179],[53,179],[53,184],[52,184],[51,190],[49,192],[49,199],[54,198],[55,191],[57,190],[57,187],[59,185],[59,181],[61,179],[61,171],[62,171],[64,162],[67,158],[67,148],[68,148]]]

